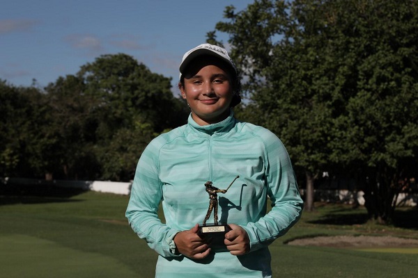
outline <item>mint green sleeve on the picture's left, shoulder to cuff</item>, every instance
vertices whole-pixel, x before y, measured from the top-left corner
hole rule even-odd
[[[157,215],[162,200],[158,152],[159,149],[151,142],[139,158],[125,215],[139,238],[144,238],[158,254],[179,256],[173,241],[179,231],[167,227]]]

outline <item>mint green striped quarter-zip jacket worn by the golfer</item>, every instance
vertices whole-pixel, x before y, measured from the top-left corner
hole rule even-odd
[[[226,189],[237,175],[227,193],[218,193],[218,216],[220,222],[247,231],[250,252],[233,256],[218,250],[203,260],[176,254],[173,237],[206,216],[206,181]],[[272,209],[266,213],[268,198]],[[157,217],[161,202],[165,224]],[[270,277],[268,245],[297,222],[302,206],[279,138],[261,126],[235,120],[231,111],[226,120],[208,126],[189,116],[187,124],[150,142],[137,165],[126,217],[160,254],[155,277]]]

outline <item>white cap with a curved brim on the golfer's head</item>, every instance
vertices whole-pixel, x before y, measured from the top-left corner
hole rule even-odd
[[[194,47],[194,49],[190,49],[189,51],[187,51],[183,56],[183,60],[180,63],[180,78],[181,74],[183,74],[185,68],[190,63],[190,61],[196,58],[197,56],[201,55],[210,55],[215,56],[217,58],[221,58],[226,63],[231,65],[233,70],[235,70],[235,73],[237,72],[237,69],[231,57],[229,57],[228,52],[225,49],[213,44],[200,44],[199,46]]]

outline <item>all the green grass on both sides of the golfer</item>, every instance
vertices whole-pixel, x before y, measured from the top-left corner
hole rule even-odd
[[[74,193],[75,194],[75,193]],[[63,196],[63,197],[62,197]],[[1,277],[153,277],[157,254],[127,225],[128,197],[104,193],[0,195]],[[393,226],[366,222],[364,208],[316,204],[272,245],[274,277],[412,277],[418,254],[286,245],[318,235],[418,238],[417,209]]]

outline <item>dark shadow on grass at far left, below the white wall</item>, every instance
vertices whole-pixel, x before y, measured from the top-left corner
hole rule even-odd
[[[79,202],[70,197],[86,192],[82,188],[64,188],[56,185],[0,185],[0,206],[7,204],[45,204]]]

